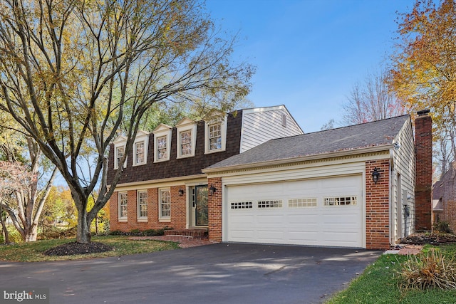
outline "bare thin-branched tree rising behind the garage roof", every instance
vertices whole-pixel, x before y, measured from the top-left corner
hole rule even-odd
[[[343,105],[343,122],[347,125],[360,124],[388,117],[403,115],[405,108],[390,92],[385,70],[368,73],[363,83],[353,85],[348,102]]]

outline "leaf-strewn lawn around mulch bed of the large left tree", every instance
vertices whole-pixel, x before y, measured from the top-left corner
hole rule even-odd
[[[131,254],[164,251],[179,248],[178,244],[169,241],[142,240],[133,241],[128,236],[94,236],[92,241],[113,246],[114,251],[103,253],[79,254],[74,256],[45,256],[43,251],[48,248],[76,241],[75,239],[53,239],[17,245],[0,246],[0,261],[10,262],[41,262],[69,261],[85,258],[107,258],[110,256],[128,256]]]

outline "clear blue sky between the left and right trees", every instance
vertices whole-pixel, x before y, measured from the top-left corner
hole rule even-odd
[[[413,0],[207,0],[212,19],[239,32],[234,59],[257,67],[249,100],[286,105],[304,132],[340,126],[353,85],[393,51]]]

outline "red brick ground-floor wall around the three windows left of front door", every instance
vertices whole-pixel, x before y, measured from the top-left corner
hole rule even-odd
[[[179,189],[185,186],[170,187],[171,194],[171,219],[170,221],[159,221],[158,219],[158,188],[147,189],[147,221],[138,221],[138,202],[136,190],[128,191],[128,221],[118,221],[118,192],[114,192],[110,198],[110,231],[130,231],[132,229],[162,229],[167,227],[173,229],[185,229],[187,222],[187,211],[185,198],[187,194],[179,195]]]

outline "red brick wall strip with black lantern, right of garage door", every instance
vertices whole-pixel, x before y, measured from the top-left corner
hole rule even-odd
[[[380,179],[372,181],[374,168]],[[380,159],[366,162],[366,248],[390,248],[390,161]]]

